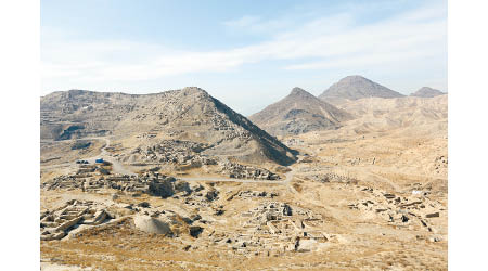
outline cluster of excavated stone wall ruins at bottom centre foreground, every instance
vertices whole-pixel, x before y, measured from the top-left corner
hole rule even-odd
[[[308,251],[320,247],[331,236],[316,230],[323,218],[310,210],[281,202],[262,202],[241,214],[244,221],[231,234],[215,233],[214,243],[240,254]],[[329,237],[328,237],[329,236]],[[301,242],[301,243],[300,243]],[[305,244],[308,248],[305,248]]]

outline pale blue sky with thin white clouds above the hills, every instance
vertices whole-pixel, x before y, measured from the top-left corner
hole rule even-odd
[[[43,0],[41,95],[200,87],[251,115],[348,75],[447,91],[447,1]]]

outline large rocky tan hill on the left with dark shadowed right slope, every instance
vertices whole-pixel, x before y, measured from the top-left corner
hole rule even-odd
[[[41,140],[111,136],[131,139],[127,149],[153,138],[185,140],[205,143],[208,156],[281,165],[295,159],[279,140],[196,87],[154,94],[69,90],[40,103]]]

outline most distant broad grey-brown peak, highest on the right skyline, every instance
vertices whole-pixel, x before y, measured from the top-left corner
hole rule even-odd
[[[319,95],[319,98],[324,101],[329,101],[330,99],[358,100],[371,96],[400,98],[403,96],[403,94],[373,82],[362,76],[354,75],[341,79]]]

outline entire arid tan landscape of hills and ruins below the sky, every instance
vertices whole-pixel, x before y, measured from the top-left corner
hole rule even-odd
[[[41,269],[447,270],[448,95],[355,78],[251,120],[198,88],[41,98]]]

